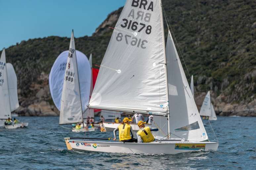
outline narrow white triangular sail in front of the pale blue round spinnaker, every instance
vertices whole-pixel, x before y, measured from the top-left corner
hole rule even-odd
[[[83,122],[77,72],[75,40],[72,31],[62,91],[60,125]]]

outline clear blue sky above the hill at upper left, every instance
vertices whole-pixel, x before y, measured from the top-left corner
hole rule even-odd
[[[0,0],[0,49],[47,36],[91,36],[126,0]]]

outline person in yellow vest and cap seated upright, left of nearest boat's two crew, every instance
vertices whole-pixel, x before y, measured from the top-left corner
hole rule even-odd
[[[119,131],[119,140],[121,142],[137,142],[137,139],[133,138],[134,135],[128,117],[125,117],[122,124],[115,128],[113,140],[116,140],[116,131]]]

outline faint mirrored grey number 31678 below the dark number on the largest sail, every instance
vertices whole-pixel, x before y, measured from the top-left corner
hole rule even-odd
[[[136,37],[132,37],[132,36],[129,36],[129,35],[124,35],[124,39],[125,39],[125,42],[126,44],[131,44],[132,46],[137,46],[138,48],[141,47],[142,49],[145,49],[147,48],[145,45],[146,43],[148,43],[147,40],[142,40],[141,38],[138,39]],[[132,40],[131,40],[132,38]],[[122,33],[118,33],[117,36],[116,36],[116,40],[118,42],[122,41],[123,40],[123,34]]]

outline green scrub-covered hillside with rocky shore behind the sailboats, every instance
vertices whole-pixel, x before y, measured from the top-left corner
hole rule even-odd
[[[198,108],[211,90],[217,114],[256,116],[256,1],[165,0],[163,6],[176,47],[181,49],[179,55],[194,75]],[[75,39],[77,50],[93,53],[94,64],[101,63],[113,31],[108,27],[115,26],[121,10],[110,13],[93,36]],[[69,38],[50,36],[22,41],[6,50],[7,61],[18,76],[21,107],[17,113],[59,114],[49,93],[48,75],[68,45]]]

